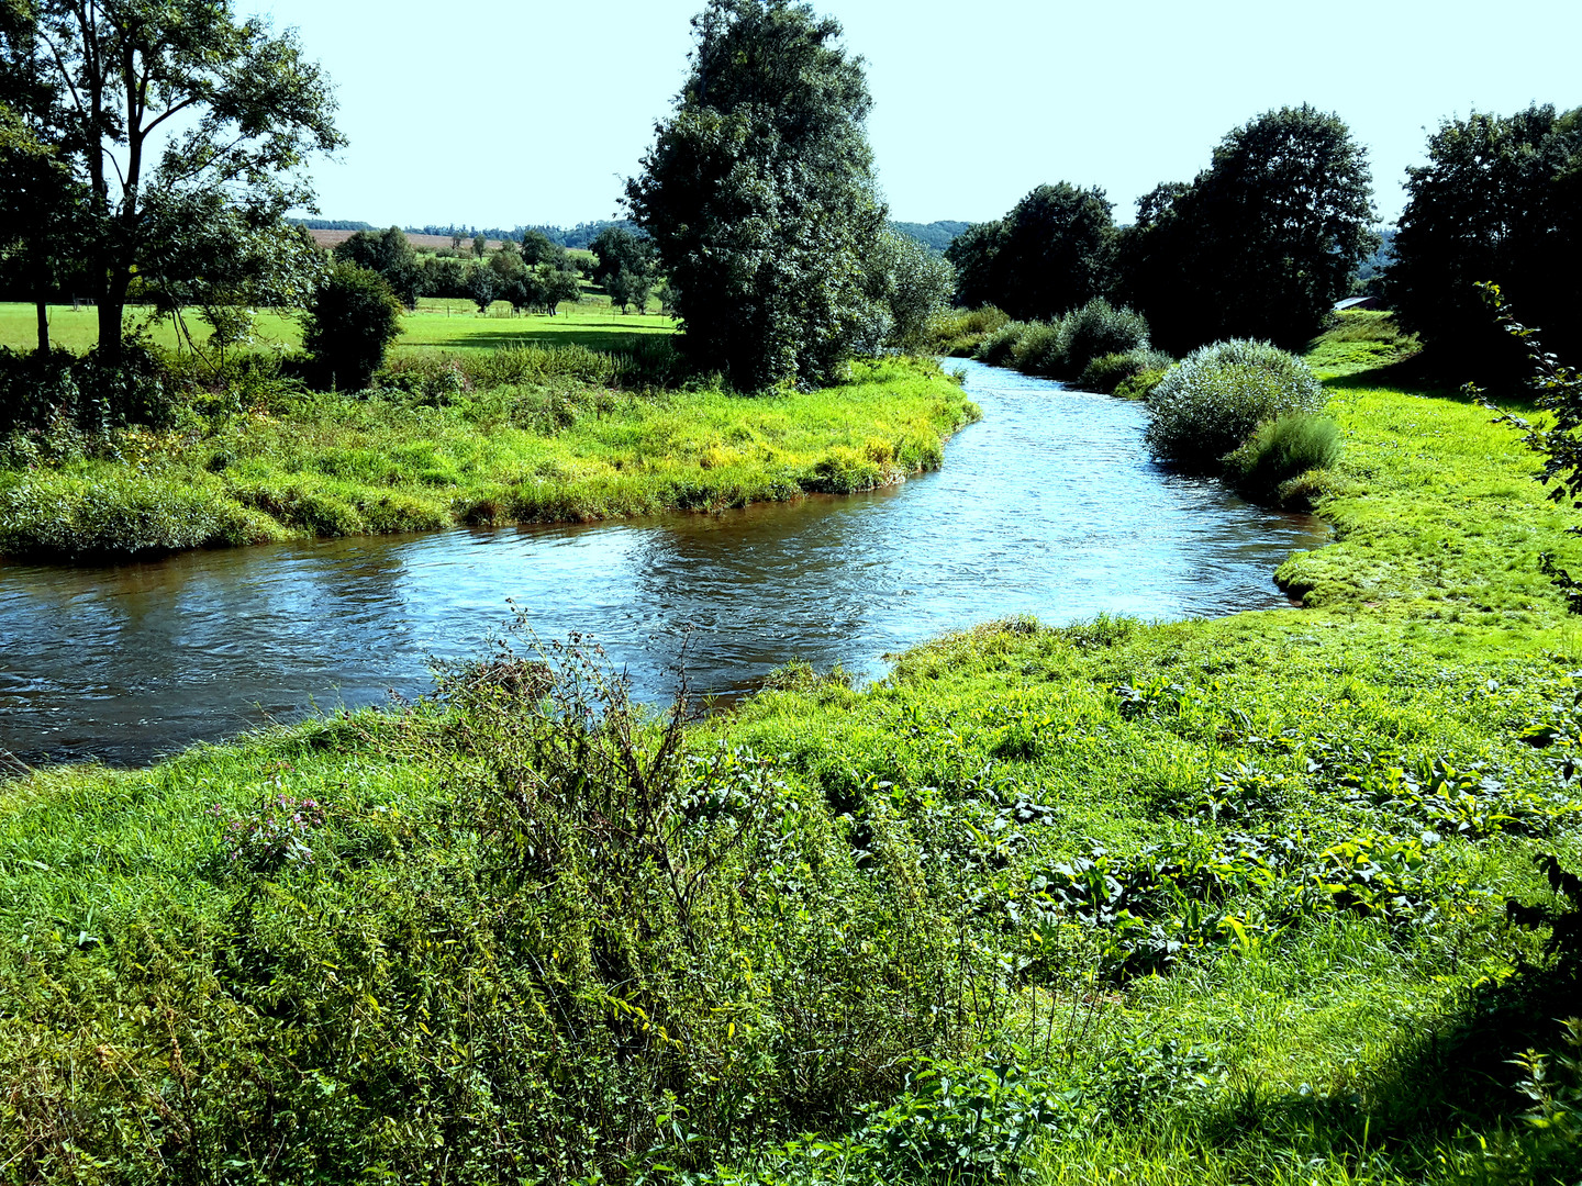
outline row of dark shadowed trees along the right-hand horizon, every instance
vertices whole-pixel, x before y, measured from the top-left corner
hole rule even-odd
[[[1147,316],[1172,353],[1224,338],[1297,348],[1359,274],[1430,346],[1470,373],[1516,373],[1473,285],[1493,280],[1517,315],[1576,357],[1582,345],[1582,109],[1448,120],[1389,250],[1365,150],[1338,115],[1270,111],[1232,130],[1191,182],[1166,182],[1117,226],[1101,188],[1041,185],[951,244],[957,299],[1024,321],[1095,297]]]

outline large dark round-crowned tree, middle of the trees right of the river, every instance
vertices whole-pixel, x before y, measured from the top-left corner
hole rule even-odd
[[[1367,152],[1338,115],[1307,104],[1232,130],[1191,185],[1163,185],[1142,207],[1120,247],[1118,296],[1171,349],[1304,345],[1378,245]]]

